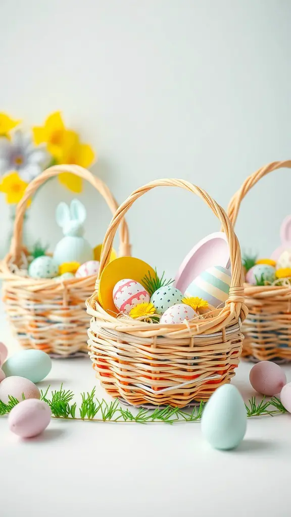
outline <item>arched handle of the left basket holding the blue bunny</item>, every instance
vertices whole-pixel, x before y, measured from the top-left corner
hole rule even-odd
[[[89,183],[104,197],[108,204],[112,214],[118,208],[118,203],[114,199],[107,185],[98,177],[94,176],[90,171],[84,169],[79,165],[53,165],[46,171],[43,171],[27,186],[21,201],[17,205],[16,216],[14,221],[13,237],[11,240],[9,255],[14,257],[16,264],[20,260],[22,247],[22,229],[23,229],[23,218],[27,207],[27,202],[30,197],[38,190],[38,188],[45,183],[48,179],[53,176],[62,174],[63,172],[70,172],[76,174],[82,179],[89,181]],[[129,233],[126,221],[123,220],[120,226],[120,247],[119,255],[126,256],[130,255],[130,244],[129,244]]]

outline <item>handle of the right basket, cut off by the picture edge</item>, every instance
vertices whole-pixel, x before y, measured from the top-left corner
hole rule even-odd
[[[256,185],[256,183],[263,178],[263,176],[266,176],[266,174],[269,174],[269,172],[277,171],[277,169],[283,169],[284,167],[291,169],[291,160],[285,160],[285,161],[277,161],[269,163],[268,165],[265,165],[264,167],[261,167],[256,172],[251,174],[244,183],[242,184],[241,188],[231,197],[231,200],[229,202],[228,208],[227,208],[227,214],[232,222],[233,225],[236,224],[236,220],[238,217],[238,212],[240,209],[241,202],[245,195],[251,190],[251,188]]]

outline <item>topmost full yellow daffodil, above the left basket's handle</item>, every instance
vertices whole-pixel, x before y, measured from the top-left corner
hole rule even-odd
[[[75,131],[66,129],[60,111],[51,113],[43,126],[35,126],[33,136],[36,144],[47,144],[49,153],[57,163],[60,163],[64,146],[72,146],[78,140]]]

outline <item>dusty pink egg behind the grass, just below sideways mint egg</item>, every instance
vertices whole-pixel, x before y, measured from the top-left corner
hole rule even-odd
[[[7,404],[9,395],[19,402],[22,401],[22,393],[25,399],[40,399],[40,391],[29,379],[24,377],[6,377],[0,383],[0,400]]]

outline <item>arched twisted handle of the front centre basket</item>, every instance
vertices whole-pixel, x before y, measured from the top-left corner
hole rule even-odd
[[[212,197],[205,192],[205,190],[192,185],[188,181],[184,181],[183,179],[157,179],[155,181],[151,181],[147,185],[140,187],[135,190],[127,200],[120,205],[120,207],[115,212],[113,219],[107,229],[107,232],[104,237],[103,247],[100,258],[100,268],[98,273],[98,278],[100,278],[101,272],[104,270],[106,265],[109,262],[109,257],[112,248],[112,242],[115,233],[117,232],[119,224],[123,221],[123,218],[127,212],[127,210],[133,205],[133,203],[144,193],[155,187],[180,187],[182,189],[188,190],[197,194],[205,203],[211,208],[214,215],[221,221],[223,231],[226,234],[228,245],[229,245],[229,254],[230,254],[230,262],[231,262],[231,287],[232,292],[229,294],[230,301],[243,302],[243,290],[242,287],[242,266],[241,266],[241,251],[238,238],[234,232],[234,227],[229,221],[228,216],[224,209],[216,203],[212,199]],[[236,290],[236,288],[238,288]]]

